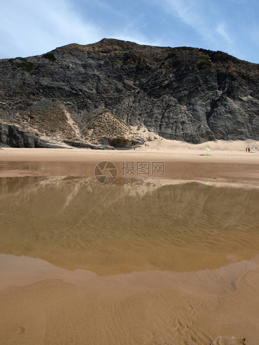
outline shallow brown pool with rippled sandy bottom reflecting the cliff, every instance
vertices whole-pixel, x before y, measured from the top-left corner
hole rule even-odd
[[[99,275],[186,272],[251,259],[258,188],[1,178],[0,253]]]

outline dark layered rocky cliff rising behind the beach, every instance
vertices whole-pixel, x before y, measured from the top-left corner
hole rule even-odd
[[[51,53],[57,60],[0,60],[2,123],[45,138],[90,143],[93,117],[106,109],[166,139],[259,140],[257,64],[220,51],[115,39]],[[107,143],[115,138],[108,136]]]

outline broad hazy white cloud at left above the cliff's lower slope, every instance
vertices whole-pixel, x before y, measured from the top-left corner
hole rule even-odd
[[[83,22],[64,0],[11,0],[2,3],[0,58],[42,54],[68,43],[101,39],[93,24]]]

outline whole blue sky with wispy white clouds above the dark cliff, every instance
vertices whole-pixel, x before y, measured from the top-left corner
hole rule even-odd
[[[258,17],[258,0],[9,0],[1,4],[0,58],[117,38],[259,63]]]

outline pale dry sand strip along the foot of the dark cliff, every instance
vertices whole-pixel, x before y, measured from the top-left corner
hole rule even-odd
[[[155,139],[146,141],[135,150],[91,150],[91,149],[36,149],[36,148],[3,148],[0,151],[1,161],[68,161],[96,162],[109,158],[113,161],[122,159],[164,159],[166,161],[213,162],[233,164],[258,164],[259,151],[246,152],[246,147],[258,147],[259,141],[217,140],[203,144],[188,144],[183,141]],[[207,151],[209,148],[211,152]],[[207,156],[209,154],[209,156]]]

